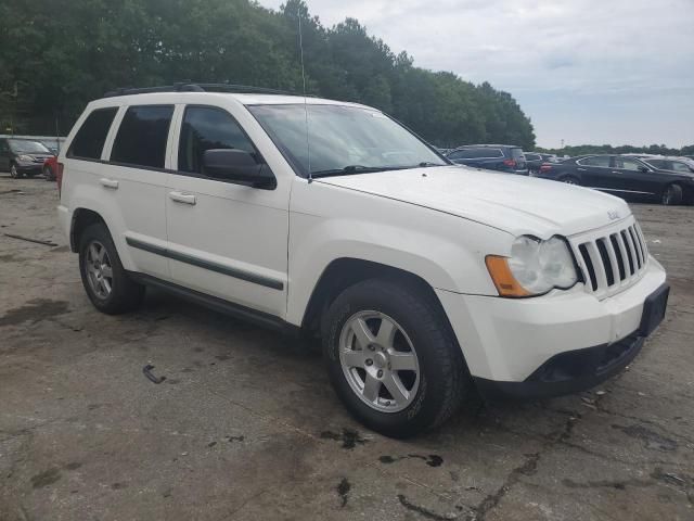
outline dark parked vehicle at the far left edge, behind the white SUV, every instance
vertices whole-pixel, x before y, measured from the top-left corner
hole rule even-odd
[[[40,141],[0,138],[0,171],[9,171],[14,179],[42,175],[47,181],[54,181],[56,152]]]

